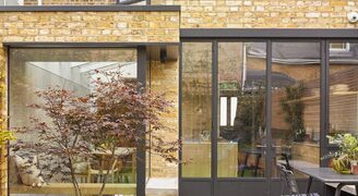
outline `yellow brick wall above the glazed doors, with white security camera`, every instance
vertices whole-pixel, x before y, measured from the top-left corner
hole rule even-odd
[[[355,0],[152,0],[181,5],[182,28],[348,28]]]

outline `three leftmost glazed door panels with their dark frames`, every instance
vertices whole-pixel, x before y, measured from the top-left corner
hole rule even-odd
[[[324,46],[182,42],[181,196],[279,195],[277,164],[323,166]],[[305,189],[307,176],[295,174]]]

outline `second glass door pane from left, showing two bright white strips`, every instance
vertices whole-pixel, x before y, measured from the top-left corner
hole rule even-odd
[[[218,127],[219,177],[264,176],[265,58],[264,42],[218,45],[218,97],[228,98],[218,120],[229,121]]]

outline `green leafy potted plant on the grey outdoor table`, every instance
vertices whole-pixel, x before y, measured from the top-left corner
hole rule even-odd
[[[338,146],[338,150],[325,158],[333,158],[332,168],[342,174],[358,174],[358,139],[351,134],[327,136],[330,144]]]

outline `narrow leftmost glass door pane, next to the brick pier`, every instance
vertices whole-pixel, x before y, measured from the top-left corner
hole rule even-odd
[[[182,176],[211,176],[212,44],[182,44]]]

